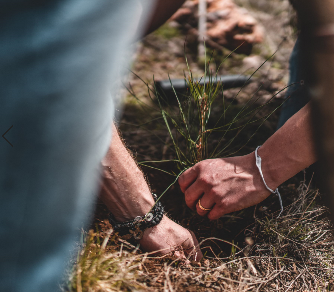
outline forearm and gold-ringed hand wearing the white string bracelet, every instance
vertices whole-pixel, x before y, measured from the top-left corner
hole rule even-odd
[[[258,150],[267,185],[276,189],[316,160],[312,139],[311,107],[307,104],[292,116]],[[253,206],[271,192],[265,187],[255,164],[255,153],[207,159],[179,177],[187,205],[201,216],[216,220],[222,215]],[[212,208],[210,211],[202,210]],[[279,202],[278,202],[279,208]]]

